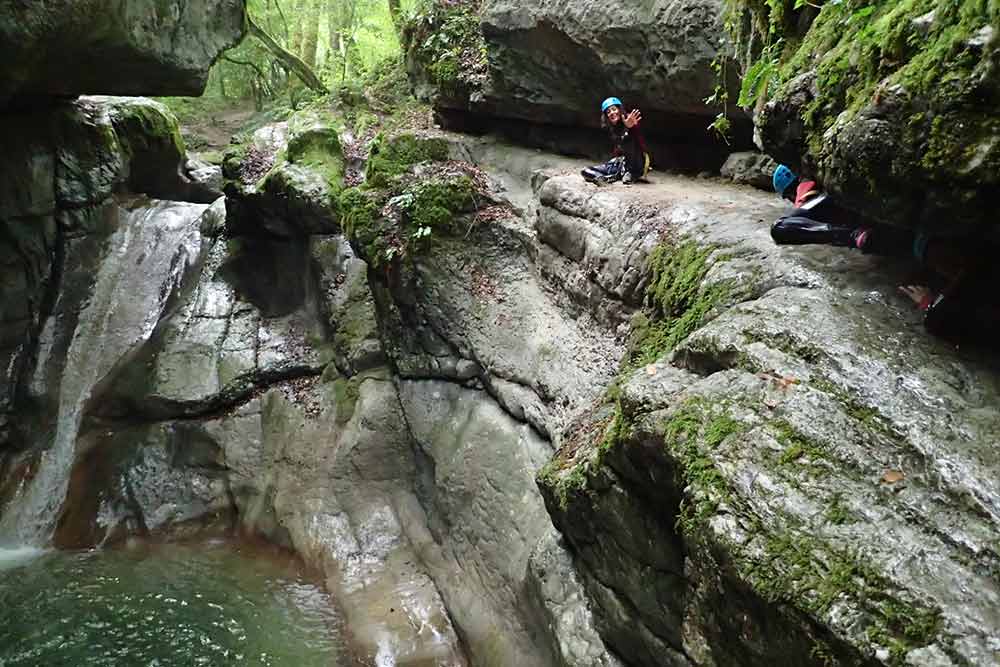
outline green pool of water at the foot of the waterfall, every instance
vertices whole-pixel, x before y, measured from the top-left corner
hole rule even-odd
[[[329,595],[269,548],[0,551],[0,667],[351,664]]]

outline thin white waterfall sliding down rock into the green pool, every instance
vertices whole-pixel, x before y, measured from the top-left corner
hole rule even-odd
[[[93,391],[149,340],[170,297],[200,266],[198,223],[208,207],[142,200],[122,208],[89,299],[72,333],[59,383],[55,431],[30,483],[0,517],[0,547],[40,547],[51,540],[69,486],[80,424]],[[57,304],[43,328],[38,367],[51,353]],[[48,341],[48,344],[47,344]]]

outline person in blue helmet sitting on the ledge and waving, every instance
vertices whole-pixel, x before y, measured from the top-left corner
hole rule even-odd
[[[646,140],[639,129],[642,113],[632,109],[625,113],[622,101],[609,97],[601,103],[601,127],[611,135],[614,151],[604,164],[587,167],[581,174],[590,183],[606,185],[621,181],[629,185],[646,178],[649,173],[650,155]]]

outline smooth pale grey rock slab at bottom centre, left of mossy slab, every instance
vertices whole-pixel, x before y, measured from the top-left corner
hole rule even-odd
[[[400,400],[432,475],[422,498],[431,573],[473,661],[551,664],[518,609],[532,550],[552,531],[533,482],[551,450],[482,391],[403,382]]]

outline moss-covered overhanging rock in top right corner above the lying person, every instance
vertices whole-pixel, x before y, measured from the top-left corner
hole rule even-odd
[[[992,232],[997,3],[831,2],[817,14],[790,0],[731,2],[752,16],[763,41],[785,40],[759,68],[768,72],[756,120],[767,152],[872,217],[941,233]],[[813,15],[800,38],[799,17]]]

